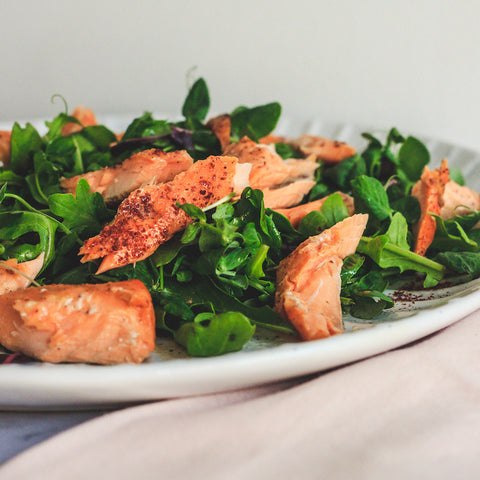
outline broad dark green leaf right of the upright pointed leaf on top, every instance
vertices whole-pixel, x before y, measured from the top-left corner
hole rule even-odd
[[[238,141],[247,136],[258,141],[277,126],[281,112],[282,107],[277,102],[232,112],[232,140]]]

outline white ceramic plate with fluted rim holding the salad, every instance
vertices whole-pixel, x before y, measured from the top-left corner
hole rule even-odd
[[[132,117],[130,117],[132,118]],[[102,119],[121,129],[125,119]],[[3,128],[10,128],[3,126]],[[0,129],[2,126],[0,125]],[[317,133],[362,148],[362,131],[350,125],[284,121],[280,133]],[[480,155],[422,139],[436,166],[447,157],[472,178]],[[473,176],[473,178],[475,178]],[[469,186],[480,190],[480,185]],[[142,365],[14,364],[0,366],[0,408],[90,408],[245,388],[320,372],[385,352],[436,332],[480,308],[480,279],[464,285],[411,293],[374,322],[346,319],[346,333],[313,342],[259,333],[242,352],[213,358],[188,358],[175,344],[159,339]]]

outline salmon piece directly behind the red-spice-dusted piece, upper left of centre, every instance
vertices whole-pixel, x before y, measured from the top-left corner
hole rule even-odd
[[[84,178],[90,185],[91,192],[102,194],[107,203],[115,203],[148,183],[158,184],[173,180],[192,164],[193,158],[186,150],[165,153],[163,150],[151,148],[134,153],[114,167],[64,178],[60,186],[65,192],[75,195],[78,182]]]

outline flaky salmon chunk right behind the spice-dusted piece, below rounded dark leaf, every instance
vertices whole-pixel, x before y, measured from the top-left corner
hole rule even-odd
[[[310,160],[292,159],[290,163],[282,160],[275,150],[268,145],[255,143],[243,137],[238,143],[230,144],[224,155],[238,158],[239,163],[250,163],[249,182],[252,188],[260,190],[276,187],[297,180],[312,178],[316,163]]]

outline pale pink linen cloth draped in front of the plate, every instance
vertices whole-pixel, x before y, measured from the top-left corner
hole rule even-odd
[[[104,415],[0,479],[480,478],[480,312],[309,379]]]

